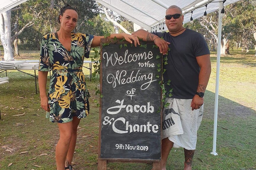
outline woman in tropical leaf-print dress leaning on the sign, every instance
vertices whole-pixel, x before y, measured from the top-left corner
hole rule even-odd
[[[78,13],[65,5],[58,21],[60,30],[42,39],[38,81],[41,107],[47,111],[51,122],[58,122],[60,139],[56,146],[57,170],[70,169],[77,139],[77,127],[81,118],[89,112],[90,97],[82,72],[84,57],[89,58],[91,47],[100,46],[104,36],[72,32],[76,27]],[[108,38],[125,38],[135,46],[138,38],[129,34],[111,34]],[[46,95],[48,71],[52,70],[49,93]]]

